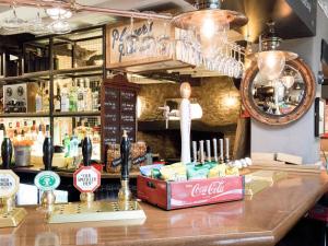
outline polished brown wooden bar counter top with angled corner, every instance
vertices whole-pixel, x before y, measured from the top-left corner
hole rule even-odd
[[[35,207],[0,245],[274,245],[328,190],[327,174],[289,173],[243,201],[164,211],[142,203],[145,221],[47,224]]]

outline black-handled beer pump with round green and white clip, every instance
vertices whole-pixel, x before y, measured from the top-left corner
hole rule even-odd
[[[34,178],[34,185],[43,192],[40,203],[42,208],[47,212],[51,213],[54,211],[54,206],[56,201],[55,189],[60,185],[60,177],[57,173],[51,171],[52,167],[52,156],[54,156],[54,145],[52,140],[49,134],[49,129],[47,126],[47,136],[43,144],[43,162],[45,165],[45,171],[38,173]]]

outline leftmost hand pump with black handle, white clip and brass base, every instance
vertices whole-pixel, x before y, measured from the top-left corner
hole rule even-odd
[[[27,212],[23,208],[15,208],[20,177],[10,169],[12,143],[7,137],[1,144],[1,157],[3,169],[0,169],[0,227],[14,227],[24,220]]]

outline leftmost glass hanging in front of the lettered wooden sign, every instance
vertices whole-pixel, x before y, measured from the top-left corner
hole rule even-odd
[[[151,12],[149,12],[151,13]],[[153,36],[153,20],[147,20],[147,34],[141,39],[140,52],[144,56],[153,56],[156,49],[156,39]]]

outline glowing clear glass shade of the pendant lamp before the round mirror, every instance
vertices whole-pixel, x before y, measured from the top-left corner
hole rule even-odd
[[[285,56],[281,51],[270,50],[258,54],[257,66],[262,78],[276,80],[284,69]]]

